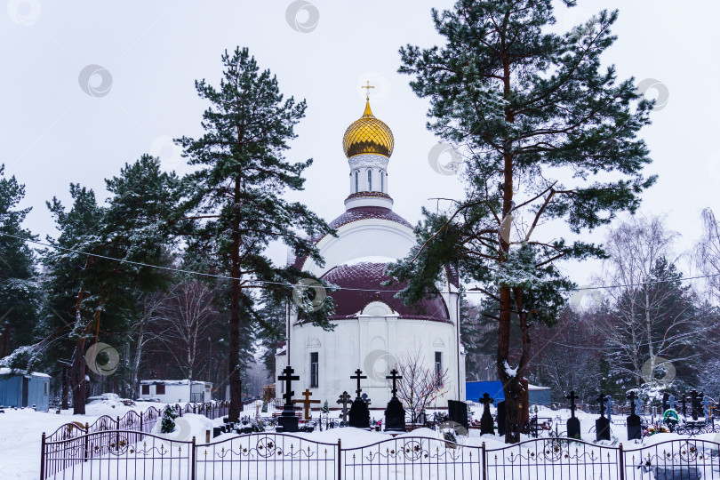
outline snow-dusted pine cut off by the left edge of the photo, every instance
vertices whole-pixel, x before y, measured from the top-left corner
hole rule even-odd
[[[4,165],[0,164],[0,358],[31,343],[37,321],[36,259],[23,240],[36,236],[22,228],[30,209],[17,208],[24,196],[25,186],[14,176],[5,178]],[[8,358],[7,365],[28,366],[13,360],[18,358]]]

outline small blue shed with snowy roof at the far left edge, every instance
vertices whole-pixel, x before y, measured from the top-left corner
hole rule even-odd
[[[0,368],[0,405],[32,407],[38,412],[48,411],[50,375]]]

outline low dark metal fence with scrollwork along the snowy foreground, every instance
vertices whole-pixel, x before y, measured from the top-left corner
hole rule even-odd
[[[343,448],[260,433],[209,444],[136,431],[43,438],[41,479],[147,480],[649,480],[720,479],[720,444],[676,439],[624,449],[538,438],[489,449],[442,438],[400,436]]]

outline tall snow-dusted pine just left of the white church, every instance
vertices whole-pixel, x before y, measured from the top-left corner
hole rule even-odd
[[[297,254],[322,263],[310,238],[330,228],[305,205],[282,197],[286,190],[302,189],[302,172],[312,163],[291,164],[284,158],[288,141],[296,137],[295,125],[305,116],[305,101],[284,100],[276,77],[260,71],[246,48],[225,52],[222,63],[218,88],[196,82],[200,98],[211,104],[203,116],[204,135],[178,141],[189,164],[198,167],[185,179],[191,188],[186,208],[196,223],[188,235],[190,252],[211,257],[216,271],[231,277],[228,419],[237,421],[242,405],[241,330],[253,322],[257,295],[252,291],[263,285],[259,280],[294,284],[300,278],[292,268],[276,268],[266,247],[281,240]],[[278,295],[283,292],[276,284],[272,288]],[[322,310],[308,317],[327,324]]]

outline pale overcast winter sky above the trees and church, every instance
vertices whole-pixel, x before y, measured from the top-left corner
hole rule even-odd
[[[221,52],[236,45],[249,47],[261,68],[276,74],[285,95],[308,100],[288,157],[315,163],[306,190],[293,199],[327,220],[344,211],[342,134],[363,113],[360,85],[367,80],[376,86],[373,113],[395,134],[388,167],[395,211],[414,224],[420,206],[434,204],[428,198],[461,195],[456,177],[440,175],[428,163],[437,140],[425,128],[427,101],[396,73],[401,45],[441,41],[430,8],[447,8],[448,0],[313,0],[304,6],[286,0],[4,1],[0,163],[27,186],[23,205],[33,212],[26,226],[36,234],[56,235],[44,202],[58,196],[68,204],[70,182],[105,198],[104,179],[146,152],[161,156],[168,170],[188,172],[169,139],[200,132],[206,104],[197,98],[194,80],[216,83]],[[642,212],[667,213],[670,228],[682,234],[678,250],[690,249],[700,236],[700,211],[711,206],[720,213],[720,2],[578,4],[558,8],[556,28],[620,8],[614,28],[619,39],[604,61],[617,66],[620,79],[659,83],[648,96],[668,93],[641,133],[652,151],[646,172],[660,176],[644,194]],[[604,229],[584,237],[602,241]],[[273,255],[284,260],[279,248]],[[586,284],[599,264],[565,268]]]

